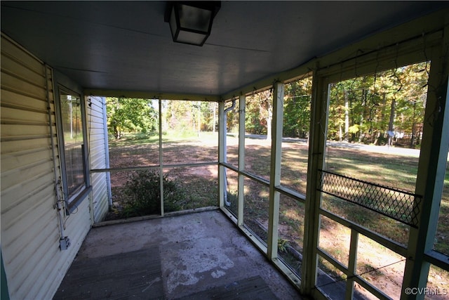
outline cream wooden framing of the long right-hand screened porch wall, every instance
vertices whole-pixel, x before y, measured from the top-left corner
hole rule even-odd
[[[420,25],[417,25],[419,27]],[[441,134],[448,131],[448,124],[445,116],[445,110],[447,110],[447,84],[448,84],[448,27],[447,25],[439,27],[434,31],[427,34],[417,32],[413,36],[413,31],[417,30],[417,27],[410,29],[409,39],[403,39],[404,37],[398,37],[396,34],[380,34],[379,37],[367,40],[367,44],[363,44],[366,48],[376,48],[376,41],[384,41],[384,47],[380,47],[377,44],[377,50],[366,53],[358,52],[358,48],[361,45],[354,46],[353,52],[350,49],[340,51],[326,58],[318,59],[313,64],[299,67],[296,70],[296,74],[287,72],[281,74],[277,78],[273,78],[272,82],[262,81],[257,86],[248,86],[246,89],[236,91],[236,94],[243,94],[243,100],[240,103],[245,103],[248,98],[253,97],[254,93],[263,89],[276,89],[276,85],[283,82],[291,82],[297,77],[306,76],[310,70],[313,70],[313,87],[311,95],[311,126],[309,131],[309,151],[308,151],[308,167],[307,167],[307,193],[295,193],[294,190],[290,190],[291,187],[284,187],[283,174],[281,172],[281,184],[279,183],[276,170],[270,172],[269,178],[265,176],[262,178],[260,174],[257,174],[252,169],[246,169],[244,165],[244,159],[246,159],[246,135],[245,123],[240,122],[239,127],[239,155],[241,161],[237,164],[237,159],[234,161],[227,161],[222,155],[220,159],[220,167],[223,169],[220,178],[220,197],[222,200],[222,209],[229,217],[236,223],[242,232],[245,233],[250,240],[264,253],[268,259],[279,267],[285,273],[294,285],[297,285],[302,289],[304,294],[311,294],[316,299],[323,299],[324,297],[330,297],[331,299],[353,299],[354,294],[361,291],[366,294],[370,294],[373,297],[380,299],[394,299],[395,297],[401,297],[401,299],[407,299],[410,294],[407,294],[408,287],[420,287],[426,288],[425,282],[427,278],[434,277],[427,273],[427,268],[431,263],[431,270],[435,266],[446,270],[449,270],[447,256],[441,256],[437,252],[434,252],[430,243],[434,239],[436,230],[436,220],[438,219],[438,207],[441,202],[441,190],[444,181],[445,159],[448,152],[447,138],[441,138]],[[391,35],[389,35],[391,34]],[[391,44],[385,44],[390,42]],[[445,54],[443,54],[445,53]],[[346,56],[345,56],[346,55]],[[345,57],[341,60],[341,57]],[[333,60],[330,60],[333,58]],[[404,243],[406,246],[399,244],[398,242],[391,241],[389,238],[384,238],[382,233],[373,233],[371,230],[367,230],[363,225],[347,221],[344,218],[340,218],[335,214],[332,214],[326,209],[321,207],[323,193],[321,192],[320,181],[323,178],[321,170],[324,168],[324,162],[326,157],[326,126],[328,122],[328,111],[333,107],[329,107],[328,89],[329,84],[333,80],[344,80],[354,76],[361,76],[365,74],[373,74],[384,70],[394,69],[395,67],[402,67],[404,65],[422,63],[428,60],[432,61],[432,70],[429,72],[429,94],[427,96],[426,116],[427,122],[424,122],[424,138],[421,148],[420,163],[418,168],[417,183],[413,192],[415,197],[415,205],[419,206],[416,211],[420,211],[418,215],[410,216],[415,218],[414,226],[410,228],[410,235],[408,240]],[[329,63],[329,65],[326,65]],[[435,65],[435,66],[434,66]],[[425,69],[424,69],[425,71]],[[288,78],[290,74],[290,78]],[[274,84],[273,84],[274,82]],[[263,84],[266,84],[264,86]],[[274,93],[275,95],[275,93]],[[229,107],[234,101],[235,96],[227,98],[225,105],[222,105],[223,111],[220,112],[220,117],[225,115],[225,107]],[[246,99],[245,99],[246,98]],[[274,103],[276,102],[276,96],[273,96]],[[438,99],[438,100],[437,100]],[[246,110],[245,105],[240,105],[239,117],[245,119]],[[242,108],[244,107],[244,108]],[[279,106],[279,108],[281,105]],[[284,106],[285,107],[285,106]],[[280,108],[282,110],[282,108]],[[436,113],[438,112],[438,113]],[[438,115],[438,117],[436,116]],[[281,115],[281,114],[280,114]],[[275,113],[273,112],[273,116]],[[273,131],[272,135],[276,136],[276,125],[282,121],[279,120],[279,115],[273,117]],[[430,121],[431,120],[431,121]],[[222,128],[225,128],[226,124],[222,124]],[[224,130],[224,129],[223,129]],[[225,143],[225,134],[222,134],[220,143]],[[281,135],[278,136],[282,138]],[[425,143],[424,143],[425,141]],[[276,165],[277,157],[281,156],[281,149],[276,150],[276,139],[272,141],[272,153],[271,157],[271,169],[279,168]],[[432,146],[432,144],[434,145]],[[234,151],[237,152],[237,151]],[[225,152],[221,152],[225,153]],[[434,154],[431,154],[434,153]],[[244,158],[242,158],[244,157]],[[438,160],[438,163],[436,162]],[[430,163],[434,161],[433,163]],[[439,166],[439,167],[436,167]],[[436,169],[440,171],[436,172]],[[438,174],[438,175],[437,175]],[[238,190],[238,195],[232,195],[232,205],[227,206],[225,203],[225,197],[229,188],[227,186],[225,177],[228,177],[228,181],[232,183],[232,190]],[[430,176],[430,177],[428,177]],[[421,180],[420,180],[421,178]],[[426,179],[424,179],[426,178]],[[223,181],[223,182],[222,182]],[[237,185],[237,187],[236,187]],[[257,190],[257,203],[260,204],[257,208],[259,211],[254,213],[255,207],[251,207],[251,202],[254,202],[251,197],[254,193],[250,193],[248,188],[253,185],[257,185],[254,190]],[[229,185],[231,186],[231,185]],[[401,188],[400,186],[396,188]],[[437,188],[434,193],[434,188]],[[436,193],[438,192],[438,193]],[[279,198],[276,199],[276,194],[282,193],[288,197],[293,197],[293,200],[297,204],[304,205],[304,242],[302,244],[301,268],[295,268],[287,266],[286,263],[281,261],[281,255],[279,255],[279,249],[282,240],[276,237],[282,237],[282,235],[276,235],[279,233]],[[431,197],[425,197],[429,193]],[[253,194],[253,195],[252,195]],[[415,196],[416,195],[416,196]],[[420,202],[419,199],[424,195],[425,201]],[[238,201],[236,201],[238,199]],[[425,203],[424,203],[425,202]],[[431,208],[432,207],[432,208]],[[282,208],[281,208],[282,210]],[[261,212],[262,211],[262,212]],[[433,212],[432,212],[433,211]],[[251,216],[250,214],[253,214]],[[361,213],[363,214],[363,213]],[[253,221],[248,222],[248,219]],[[419,224],[417,224],[419,219]],[[321,220],[321,221],[320,221]],[[320,244],[320,228],[322,220],[328,221],[328,223],[335,223],[337,226],[347,228],[350,233],[347,237],[349,242],[346,248],[342,249],[345,252],[343,255],[346,258],[346,264],[340,263],[332,257],[328,256],[323,249],[324,246]],[[299,231],[299,230],[298,230]],[[421,240],[420,240],[421,239]],[[374,283],[367,283],[366,275],[357,275],[361,273],[357,262],[363,257],[363,254],[359,255],[357,261],[357,241],[361,245],[360,247],[366,247],[368,243],[376,244],[376,247],[385,247],[386,252],[391,252],[391,256],[397,256],[396,264],[403,275],[400,285],[394,291],[386,292],[382,287]],[[424,240],[427,240],[427,244],[424,246]],[[324,241],[321,241],[324,242]],[[433,242],[432,242],[433,244]],[[424,254],[425,258],[422,256]],[[320,263],[318,263],[320,259]],[[328,268],[333,268],[335,273],[341,273],[343,275],[341,284],[346,289],[342,295],[335,294],[333,296],[333,287],[328,280],[320,278],[322,274],[323,264],[321,261],[326,259],[332,261]],[[417,259],[418,262],[415,262]],[[354,269],[353,269],[354,268]],[[356,268],[359,268],[356,270]],[[386,270],[388,269],[386,267]],[[293,273],[295,269],[295,273]],[[412,275],[413,274],[413,275]],[[365,278],[365,280],[363,279]],[[418,279],[419,278],[419,279]],[[335,282],[338,280],[335,280]],[[369,281],[369,280],[368,280]],[[323,288],[320,288],[323,286]],[[438,285],[437,285],[438,287]],[[436,287],[433,287],[434,291]],[[448,292],[447,289],[439,289],[440,293]],[[413,295],[418,299],[422,299],[424,294]]]

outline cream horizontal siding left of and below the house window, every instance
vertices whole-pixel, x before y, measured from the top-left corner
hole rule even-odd
[[[51,299],[91,228],[86,200],[65,217],[72,244],[59,249],[52,76],[50,67],[1,35],[1,252],[11,299]]]

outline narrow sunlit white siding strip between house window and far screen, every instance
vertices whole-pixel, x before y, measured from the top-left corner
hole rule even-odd
[[[88,97],[88,136],[91,152],[91,169],[107,168],[107,143],[105,138],[105,98]],[[93,219],[102,221],[109,210],[109,197],[106,173],[91,174],[93,195]]]

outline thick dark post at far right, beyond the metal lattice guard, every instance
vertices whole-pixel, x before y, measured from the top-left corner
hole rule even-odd
[[[427,286],[430,263],[424,260],[424,254],[434,249],[438,226],[449,148],[448,26],[445,27],[443,41],[441,47],[426,49],[431,58],[431,70],[415,190],[415,193],[424,197],[418,204],[418,228],[410,228],[409,254],[404,270],[401,299],[424,299],[424,293],[415,295],[408,294],[407,291],[408,288],[424,289]]]

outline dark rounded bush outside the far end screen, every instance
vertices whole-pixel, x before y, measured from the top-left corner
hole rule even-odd
[[[127,201],[123,206],[123,216],[147,216],[161,213],[161,187],[159,172],[151,170],[135,171],[124,188]],[[168,174],[162,177],[163,208],[164,211],[182,209],[186,199],[185,191],[176,183],[168,179]]]

